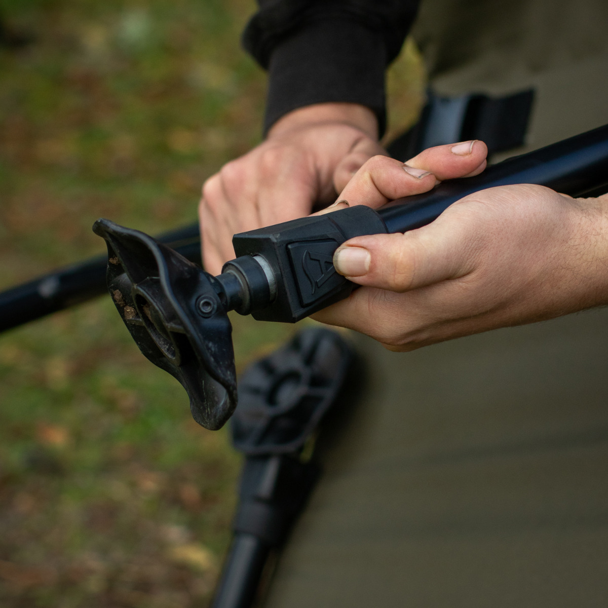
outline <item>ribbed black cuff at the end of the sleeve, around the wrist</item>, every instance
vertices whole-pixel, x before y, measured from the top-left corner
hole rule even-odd
[[[294,109],[342,102],[370,108],[381,137],[386,128],[386,64],[385,43],[375,30],[344,19],[309,24],[272,51],[264,133]]]

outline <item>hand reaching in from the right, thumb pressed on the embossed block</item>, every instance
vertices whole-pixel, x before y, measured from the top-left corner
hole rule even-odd
[[[395,161],[372,159],[340,198],[377,207],[412,193]],[[608,303],[608,195],[489,188],[420,229],[347,241],[334,266],[363,287],[313,318],[390,350],[551,319]]]

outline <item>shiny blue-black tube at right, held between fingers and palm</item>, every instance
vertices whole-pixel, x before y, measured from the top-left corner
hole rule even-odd
[[[608,125],[488,167],[474,178],[443,182],[379,211],[389,232],[430,224],[463,196],[509,184],[538,184],[570,196],[608,191]]]

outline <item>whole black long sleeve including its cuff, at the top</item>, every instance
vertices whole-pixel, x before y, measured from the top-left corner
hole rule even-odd
[[[264,130],[313,103],[367,106],[386,124],[384,72],[418,0],[260,0],[244,47],[269,71]]]

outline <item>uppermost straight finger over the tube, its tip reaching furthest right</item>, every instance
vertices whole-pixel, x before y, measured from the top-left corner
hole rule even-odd
[[[486,156],[488,147],[485,143],[471,140],[427,148],[406,161],[406,164],[431,171],[438,180],[443,181],[481,173],[486,167]]]

